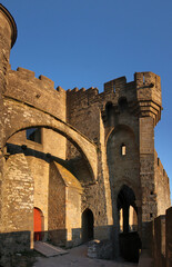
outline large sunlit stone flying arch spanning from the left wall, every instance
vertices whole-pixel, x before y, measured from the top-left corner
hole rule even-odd
[[[34,127],[52,129],[64,136],[77,147],[85,159],[92,177],[92,182],[97,180],[97,146],[75,128],[52,115],[9,99],[6,100],[6,113],[3,147],[11,136],[21,130]]]

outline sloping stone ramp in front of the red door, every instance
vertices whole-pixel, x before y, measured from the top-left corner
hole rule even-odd
[[[67,250],[60,248],[60,247],[54,247],[48,243],[43,241],[36,241],[34,243],[34,249],[44,255],[45,257],[53,257],[53,256],[59,256],[63,254],[68,254]]]

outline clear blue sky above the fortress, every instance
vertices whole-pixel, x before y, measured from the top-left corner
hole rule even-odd
[[[11,67],[44,75],[64,89],[98,87],[152,71],[161,77],[155,149],[172,190],[172,1],[2,0],[18,26]]]

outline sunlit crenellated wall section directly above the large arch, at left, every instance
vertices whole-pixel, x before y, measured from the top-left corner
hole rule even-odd
[[[8,71],[4,97],[28,103],[65,121],[65,96],[61,87],[44,76],[36,78],[34,72],[23,68]]]

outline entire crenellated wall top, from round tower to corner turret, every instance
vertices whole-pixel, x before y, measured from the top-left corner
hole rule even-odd
[[[54,81],[44,76],[36,78],[33,71],[19,67],[17,71],[8,71],[8,87],[6,96],[28,102],[38,107],[44,107],[44,110],[52,110],[52,107],[59,107],[63,102],[63,109],[69,112],[88,108],[90,105],[97,105],[105,112],[107,102],[111,101],[114,110],[119,112],[120,99],[125,99],[130,112],[139,117],[153,117],[154,125],[161,118],[161,83],[160,77],[152,72],[136,72],[134,80],[127,82],[125,77],[120,77],[104,83],[103,92],[98,88],[73,88],[63,90],[58,87],[54,90]],[[67,97],[67,102],[63,101]],[[61,100],[62,99],[62,100]],[[49,105],[47,103],[49,102]],[[51,103],[53,102],[53,105]],[[60,105],[59,105],[60,102]],[[43,105],[42,105],[43,103]],[[59,112],[58,112],[59,113]]]

